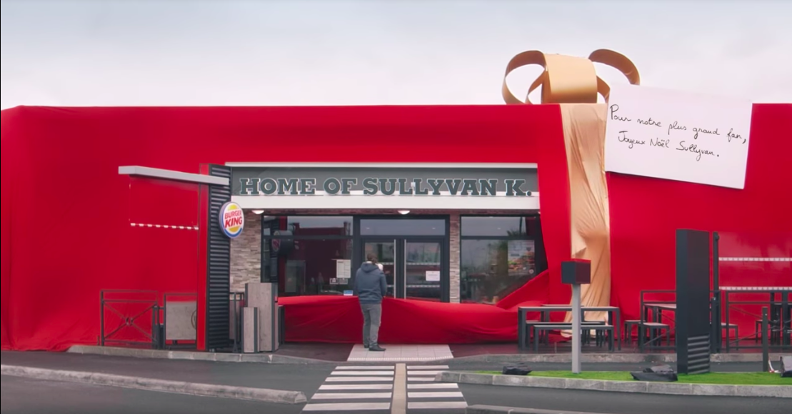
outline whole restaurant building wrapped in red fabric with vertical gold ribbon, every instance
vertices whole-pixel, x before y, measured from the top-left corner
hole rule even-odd
[[[569,303],[569,259],[592,261],[585,305],[638,319],[642,291],[675,287],[677,229],[720,232],[723,286],[789,286],[792,105],[754,105],[740,191],[604,173],[604,114],[3,110],[2,349],[97,344],[102,294],[119,290],[191,298],[197,348],[222,348],[230,298],[255,281],[277,284],[287,341],[355,343],[367,253],[387,273],[383,344],[516,344],[517,306]],[[227,203],[241,230],[220,228]]]

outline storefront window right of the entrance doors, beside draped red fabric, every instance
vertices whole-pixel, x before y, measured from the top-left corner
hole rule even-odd
[[[463,217],[460,298],[497,303],[543,270],[534,218]]]

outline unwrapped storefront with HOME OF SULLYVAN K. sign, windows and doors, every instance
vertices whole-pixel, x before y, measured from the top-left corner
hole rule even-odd
[[[227,163],[246,211],[231,289],[350,294],[369,253],[393,298],[494,303],[546,269],[535,163]]]

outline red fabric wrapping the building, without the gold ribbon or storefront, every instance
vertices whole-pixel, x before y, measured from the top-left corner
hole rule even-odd
[[[755,106],[742,192],[608,177],[612,301],[626,317],[637,316],[642,289],[673,288],[676,228],[775,231],[781,241],[733,237],[728,244],[742,252],[752,246],[755,256],[767,256],[760,254],[765,250],[789,255],[792,220],[783,185],[790,172],[782,165],[792,153],[784,124],[790,119],[792,105]],[[162,294],[199,288],[198,232],[154,234],[130,226],[133,219],[202,225],[197,189],[122,177],[120,165],[197,173],[201,163],[354,162],[371,161],[371,154],[380,162],[539,164],[549,272],[498,306],[388,300],[383,310],[383,343],[514,340],[515,306],[569,300],[558,273],[570,250],[563,142],[556,105],[3,111],[2,348],[96,344],[102,289]],[[729,277],[748,285],[789,284],[788,267],[767,266],[760,268],[762,279],[748,273],[752,268],[733,268]],[[776,270],[765,273],[768,268]],[[280,302],[287,306],[287,340],[360,340],[354,298]]]

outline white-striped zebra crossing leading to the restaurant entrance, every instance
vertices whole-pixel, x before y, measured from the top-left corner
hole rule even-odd
[[[306,413],[460,414],[467,403],[459,386],[434,382],[447,366],[341,366],[303,408]]]

